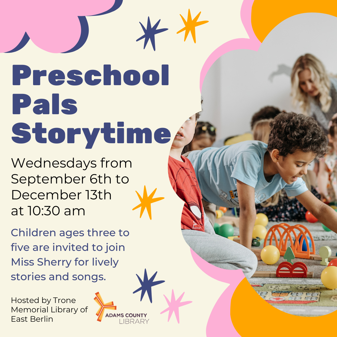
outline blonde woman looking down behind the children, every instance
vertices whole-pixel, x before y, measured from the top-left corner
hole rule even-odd
[[[300,56],[292,74],[293,104],[312,116],[328,134],[328,124],[337,113],[337,78],[329,77],[323,63],[311,54]]]

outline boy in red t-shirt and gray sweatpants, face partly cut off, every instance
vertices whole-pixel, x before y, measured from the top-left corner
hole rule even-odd
[[[204,214],[202,194],[191,162],[181,155],[194,135],[199,113],[188,118],[178,130],[168,157],[168,177],[178,196],[185,202],[181,229],[192,250],[212,265],[223,269],[241,269],[247,278],[257,267],[256,255],[232,240],[216,235]]]

